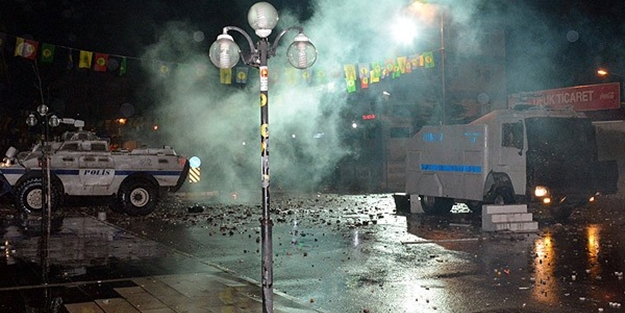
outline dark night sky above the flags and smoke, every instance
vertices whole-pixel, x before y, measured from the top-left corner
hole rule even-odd
[[[222,26],[247,28],[247,9],[254,2],[2,0],[0,31],[77,49],[140,56],[146,46],[159,40],[168,22],[179,22],[204,33],[205,40],[196,48],[205,51]],[[281,0],[272,4],[306,21],[320,11],[322,2]],[[459,1],[439,2],[459,12],[471,11],[470,19],[502,20],[508,38],[509,93],[593,82],[593,69],[598,66],[625,72],[621,57],[623,1],[482,0],[470,1],[472,8],[460,9]],[[353,1],[353,6],[363,6],[362,1]],[[379,22],[382,26],[389,19],[379,16],[363,23]],[[178,56],[162,57],[176,61]],[[536,63],[541,66],[528,69],[528,64]]]

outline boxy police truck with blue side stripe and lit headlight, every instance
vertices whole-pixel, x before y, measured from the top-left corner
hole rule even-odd
[[[556,219],[616,193],[616,161],[599,161],[595,128],[573,109],[517,106],[464,125],[425,126],[406,147],[411,212],[443,214],[455,202],[547,207]],[[408,200],[404,199],[405,202]]]

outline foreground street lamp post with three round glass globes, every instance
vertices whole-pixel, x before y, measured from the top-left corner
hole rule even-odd
[[[296,30],[293,43],[287,49],[289,63],[297,69],[305,69],[312,66],[317,60],[317,49],[304,35],[303,28],[292,26],[282,30],[275,38],[273,44],[269,42],[269,35],[278,23],[278,12],[267,2],[258,2],[252,5],[248,14],[248,22],[254,29],[260,40],[254,45],[252,38],[243,29],[236,26],[226,26],[223,33],[217,36],[217,40],[209,48],[211,62],[220,69],[230,69],[237,64],[239,59],[243,63],[259,69],[260,76],[260,147],[261,147],[261,188],[262,188],[262,300],[263,313],[273,312],[273,261],[272,261],[272,235],[273,223],[269,216],[269,70],[267,60],[276,55],[278,42],[291,30]],[[236,31],[242,34],[249,45],[249,53],[241,52],[228,31]]]

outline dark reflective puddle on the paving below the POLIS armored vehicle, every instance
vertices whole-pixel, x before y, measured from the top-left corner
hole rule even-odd
[[[51,279],[65,281],[71,277],[89,278],[89,269],[111,266],[127,260],[156,258],[166,254],[157,242],[138,238],[116,227],[89,217],[53,218],[50,234],[42,235],[40,218],[14,219],[2,222],[0,274],[15,269],[49,266]],[[48,238],[46,238],[48,237]],[[30,277],[29,277],[30,276]],[[0,278],[0,287],[11,287],[9,277]],[[20,285],[40,284],[36,276],[22,275]]]

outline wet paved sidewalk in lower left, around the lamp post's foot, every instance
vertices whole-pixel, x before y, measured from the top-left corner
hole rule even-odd
[[[262,312],[257,282],[93,217],[63,218],[42,273],[42,238],[22,229],[3,229],[17,262],[0,264],[0,312]],[[273,308],[322,312],[275,290]]]

